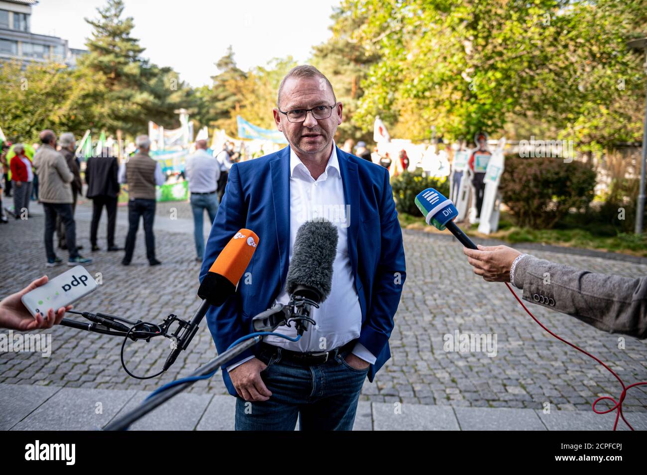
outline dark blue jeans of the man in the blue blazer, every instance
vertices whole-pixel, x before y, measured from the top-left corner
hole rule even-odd
[[[259,402],[236,397],[236,430],[294,430],[297,416],[300,430],[353,429],[369,368],[349,366],[348,352],[312,366],[281,359],[280,348],[273,353],[258,355],[268,365],[261,377],[272,395]]]

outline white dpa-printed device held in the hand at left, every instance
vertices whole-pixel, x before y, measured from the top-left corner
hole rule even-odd
[[[38,312],[47,315],[49,309],[56,311],[72,304],[96,290],[96,287],[98,285],[85,267],[77,265],[49,280],[45,285],[26,293],[21,300],[32,315],[36,316]]]

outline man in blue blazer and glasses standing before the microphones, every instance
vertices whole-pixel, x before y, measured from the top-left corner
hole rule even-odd
[[[206,314],[219,353],[252,331],[252,317],[287,304],[296,230],[325,217],[338,229],[330,296],[300,340],[265,337],[223,368],[237,397],[237,430],[350,430],[362,385],[391,357],[389,337],[405,263],[388,171],[337,148],[342,104],[316,68],[281,81],[276,126],[289,146],[234,164],[206,244],[200,281],[241,228],[259,244],[236,294]],[[294,337],[294,326],[276,330]]]

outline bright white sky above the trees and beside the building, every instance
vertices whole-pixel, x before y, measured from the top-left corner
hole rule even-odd
[[[193,87],[210,84],[214,63],[229,45],[240,69],[266,65],[288,55],[300,62],[311,48],[331,37],[330,15],[340,0],[124,0],[122,16],[135,21],[132,36],[142,54],[170,66]],[[40,0],[32,7],[33,33],[60,36],[69,47],[85,49],[96,8],[107,0]]]

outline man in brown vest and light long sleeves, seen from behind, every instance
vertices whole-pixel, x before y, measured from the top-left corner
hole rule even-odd
[[[129,265],[135,251],[135,238],[139,227],[139,217],[144,218],[146,233],[146,258],[150,265],[161,264],[155,258],[155,236],[153,220],[155,219],[155,185],[164,184],[164,175],[160,164],[148,155],[151,141],[148,135],[139,135],[135,139],[138,151],[119,168],[119,182],[128,184],[128,235],[126,236],[126,255],[123,265]]]

